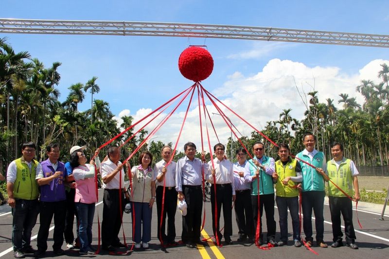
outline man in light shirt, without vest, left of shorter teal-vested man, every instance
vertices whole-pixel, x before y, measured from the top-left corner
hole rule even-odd
[[[244,172],[247,164],[247,152],[244,148],[236,150],[236,159],[234,163],[234,185],[235,185],[235,218],[239,229],[238,242],[252,243],[254,238],[254,221],[252,218],[251,190],[250,183],[245,180]]]

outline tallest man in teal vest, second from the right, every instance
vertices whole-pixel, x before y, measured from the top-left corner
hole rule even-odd
[[[322,152],[315,149],[316,137],[312,133],[305,133],[302,137],[305,149],[301,151],[296,157],[299,160],[304,160],[311,165],[300,161],[302,172],[302,186],[301,186],[301,205],[303,215],[303,229],[305,234],[305,241],[308,246],[312,246],[312,209],[315,213],[316,225],[316,243],[320,247],[327,247],[324,242],[324,172],[326,172],[326,159]],[[322,170],[317,171],[316,168]]]

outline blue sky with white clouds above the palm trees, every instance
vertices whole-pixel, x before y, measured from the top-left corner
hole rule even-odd
[[[388,7],[385,0],[2,0],[0,17],[187,22],[388,35]],[[303,116],[304,106],[296,95],[293,77],[306,91],[315,83],[321,102],[332,98],[337,103],[340,93],[362,101],[355,86],[361,79],[377,80],[379,64],[389,62],[386,48],[184,37],[3,36],[17,52],[28,51],[47,67],[62,62],[61,101],[71,84],[97,76],[101,91],[95,98],[107,101],[118,117],[126,114],[136,119],[192,84],[179,73],[178,56],[189,45],[205,44],[213,56],[214,69],[203,86],[260,129],[266,121],[276,120],[282,109],[292,108],[295,118]],[[89,106],[87,94],[79,109]],[[228,128],[216,117],[220,135],[227,138]],[[193,130],[195,119],[193,110],[180,142],[189,138],[199,141],[193,137],[198,135]],[[182,114],[172,118],[171,125],[156,134],[158,140],[175,142],[162,136],[176,136],[181,120]],[[249,135],[250,129],[232,120]]]

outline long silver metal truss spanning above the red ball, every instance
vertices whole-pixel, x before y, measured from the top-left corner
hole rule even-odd
[[[0,18],[0,34],[228,38],[389,48],[389,35],[216,24]]]

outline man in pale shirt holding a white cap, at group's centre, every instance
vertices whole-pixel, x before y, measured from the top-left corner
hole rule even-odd
[[[200,240],[201,211],[203,194],[201,190],[202,173],[208,174],[205,157],[201,161],[195,158],[196,146],[192,142],[184,145],[185,156],[178,159],[176,166],[176,190],[178,199],[187,204],[187,214],[182,215],[182,242],[186,247],[194,248],[195,244],[204,244]],[[204,154],[204,153],[202,153]],[[205,154],[204,154],[205,155]]]

